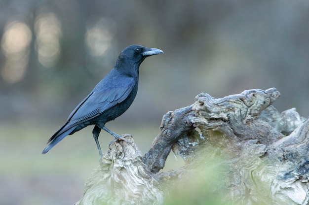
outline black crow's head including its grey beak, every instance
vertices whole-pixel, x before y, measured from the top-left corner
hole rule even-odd
[[[142,45],[130,45],[121,51],[115,67],[119,68],[124,65],[134,65],[138,68],[145,58],[160,53],[163,53],[163,51],[157,48],[147,48]]]

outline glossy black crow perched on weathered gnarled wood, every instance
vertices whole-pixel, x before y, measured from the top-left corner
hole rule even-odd
[[[132,104],[138,87],[139,66],[148,56],[163,53],[157,48],[130,45],[121,51],[115,67],[94,87],[70,114],[67,122],[48,140],[42,154],[48,152],[67,135],[95,125],[92,131],[99,154],[101,129],[116,138],[120,136],[105,127],[105,123],[115,120]]]

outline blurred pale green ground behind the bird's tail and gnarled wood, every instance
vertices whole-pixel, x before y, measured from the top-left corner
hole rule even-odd
[[[109,126],[119,134],[130,133],[145,154],[159,129],[139,123]],[[40,154],[56,123],[22,121],[0,125],[0,204],[67,205],[82,196],[84,182],[98,166],[99,154],[90,127],[66,137],[45,155]],[[102,132],[103,151],[113,137]],[[180,168],[183,160],[169,156],[165,171]]]

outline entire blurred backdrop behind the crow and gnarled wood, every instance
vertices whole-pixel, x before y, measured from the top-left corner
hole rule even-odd
[[[159,48],[107,127],[143,154],[162,116],[201,92],[275,87],[279,112],[309,115],[308,0],[0,0],[0,204],[74,204],[98,165],[92,127],[49,137],[130,44]],[[102,150],[113,138],[101,132]],[[166,169],[177,169],[174,157]],[[171,166],[171,167],[168,167]]]

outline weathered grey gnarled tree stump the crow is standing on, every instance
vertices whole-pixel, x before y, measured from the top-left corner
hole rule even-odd
[[[307,205],[309,120],[271,105],[280,93],[246,90],[163,116],[142,157],[132,136],[107,150],[76,205]],[[170,150],[186,165],[159,172]]]

